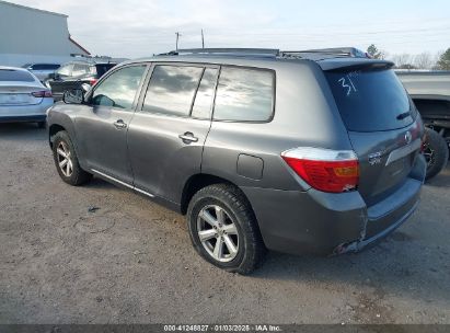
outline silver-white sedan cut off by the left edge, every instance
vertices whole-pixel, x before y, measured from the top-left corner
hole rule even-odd
[[[45,126],[51,91],[24,68],[0,66],[0,123],[35,122]]]

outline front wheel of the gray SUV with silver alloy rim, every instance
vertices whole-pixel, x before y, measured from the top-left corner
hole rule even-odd
[[[92,179],[92,174],[81,169],[73,143],[67,131],[58,131],[53,137],[53,152],[56,170],[62,181],[79,186]],[[64,164],[64,161],[66,161],[66,164]]]

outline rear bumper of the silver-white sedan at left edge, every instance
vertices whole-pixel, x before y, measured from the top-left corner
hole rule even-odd
[[[0,106],[0,123],[45,122],[47,110],[54,104],[53,99],[43,99],[34,105]]]

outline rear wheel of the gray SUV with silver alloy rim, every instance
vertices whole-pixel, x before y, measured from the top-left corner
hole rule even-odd
[[[208,218],[205,219],[206,216]],[[211,218],[217,229],[210,223]],[[191,199],[187,222],[193,245],[207,262],[243,275],[250,274],[263,262],[266,248],[253,210],[239,188],[227,184],[201,188]],[[199,231],[205,236],[204,242],[200,241]],[[220,251],[216,252],[218,248]]]

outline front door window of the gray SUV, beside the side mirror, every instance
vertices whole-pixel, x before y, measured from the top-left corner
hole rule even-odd
[[[145,70],[146,66],[141,65],[115,71],[95,88],[92,105],[131,108]]]

